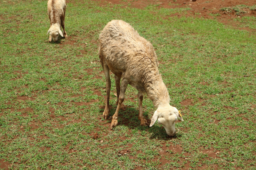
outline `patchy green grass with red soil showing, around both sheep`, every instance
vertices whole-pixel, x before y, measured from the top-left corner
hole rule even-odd
[[[1,168],[255,169],[254,34],[217,20],[168,17],[187,8],[84,0],[68,3],[68,39],[48,43],[46,4],[0,4]],[[158,123],[140,126],[131,86],[119,125],[110,130],[111,119],[102,120],[106,92],[97,39],[112,19],[130,23],[156,49],[170,104],[185,120],[176,123],[175,137]],[[111,81],[113,115],[113,74]],[[145,95],[144,116],[150,119],[155,109]]]

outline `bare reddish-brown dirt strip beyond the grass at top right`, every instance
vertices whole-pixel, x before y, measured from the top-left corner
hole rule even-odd
[[[255,10],[250,10],[249,8],[245,8],[244,10],[240,10],[236,8],[239,12],[235,10],[230,10],[228,7],[234,7],[239,5],[245,6],[255,6],[256,0],[251,1],[242,1],[242,0],[214,0],[214,1],[206,1],[206,0],[99,0],[100,5],[104,6],[107,4],[119,4],[121,7],[132,7],[143,9],[148,4],[155,5],[157,8],[190,8],[186,14],[174,13],[171,16],[186,16],[186,17],[203,17],[210,19],[217,19],[219,22],[227,25],[231,25],[236,27],[238,23],[234,22],[232,19],[240,18],[240,17],[248,17],[248,16],[256,16]],[[220,9],[224,9],[221,10]],[[227,11],[228,9],[228,11]],[[255,29],[250,29],[248,27],[239,29],[249,29],[252,32],[255,32]]]

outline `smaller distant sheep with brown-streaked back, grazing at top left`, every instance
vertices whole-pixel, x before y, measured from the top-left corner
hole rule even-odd
[[[65,0],[48,0],[47,2],[48,15],[50,19],[50,29],[47,32],[47,34],[50,33],[49,42],[51,42],[52,39],[56,42],[59,34],[62,37],[68,38],[64,28],[66,6]],[[61,26],[63,28],[64,36],[61,32]]]

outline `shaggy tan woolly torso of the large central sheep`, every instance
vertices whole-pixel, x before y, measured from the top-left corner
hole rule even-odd
[[[135,84],[140,83],[144,89],[147,82],[161,79],[152,44],[128,23],[122,20],[110,21],[100,33],[99,41],[101,64],[107,63],[117,76]]]

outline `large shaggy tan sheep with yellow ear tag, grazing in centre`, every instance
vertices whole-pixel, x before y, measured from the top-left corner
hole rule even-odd
[[[139,120],[140,125],[148,126],[149,123],[142,113],[143,93],[157,107],[151,118],[150,127],[158,120],[166,130],[167,135],[175,135],[175,121],[177,117],[183,121],[179,111],[170,106],[170,97],[168,90],[164,85],[161,75],[158,71],[158,61],[156,53],[150,42],[141,37],[137,31],[128,23],[122,20],[110,21],[102,30],[99,36],[100,48],[99,57],[103,67],[106,83],[106,106],[103,112],[103,118],[107,119],[109,115],[109,94],[110,77],[109,70],[115,74],[117,108],[112,117],[110,129],[117,125],[119,109],[125,109],[124,93],[128,84],[136,88],[139,101]],[[120,87],[120,80],[122,83]]]

